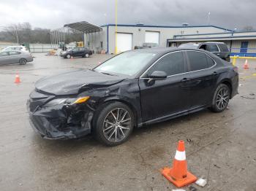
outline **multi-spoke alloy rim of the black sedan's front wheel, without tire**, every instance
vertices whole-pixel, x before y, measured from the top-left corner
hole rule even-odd
[[[132,118],[124,108],[112,109],[103,122],[103,134],[108,141],[119,142],[129,135]]]

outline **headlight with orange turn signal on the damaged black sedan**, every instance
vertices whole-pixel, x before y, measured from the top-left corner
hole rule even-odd
[[[67,104],[67,105],[82,104],[88,101],[89,98],[90,96],[81,97],[81,98],[57,98],[57,99],[53,99],[52,101],[49,101],[44,106],[56,106],[59,104]]]

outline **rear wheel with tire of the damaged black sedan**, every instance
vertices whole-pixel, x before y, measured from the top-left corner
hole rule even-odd
[[[214,93],[214,98],[211,105],[212,112],[223,112],[227,108],[230,101],[230,87],[225,84],[220,84]]]

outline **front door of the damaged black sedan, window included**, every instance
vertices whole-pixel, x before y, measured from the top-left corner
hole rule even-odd
[[[165,71],[166,79],[151,79],[154,71]],[[167,117],[189,108],[189,90],[184,87],[187,66],[182,51],[162,56],[140,77],[143,122]]]

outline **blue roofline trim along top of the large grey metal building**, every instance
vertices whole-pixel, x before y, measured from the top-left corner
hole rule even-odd
[[[115,24],[106,24],[106,25],[102,25],[101,27],[105,27],[105,26],[116,26]],[[195,28],[195,27],[214,27],[214,28],[219,28],[225,31],[231,31],[230,29],[227,28],[222,28],[219,26],[154,26],[154,25],[129,25],[129,24],[118,24],[117,26],[130,26],[130,27],[157,27],[157,28]]]

